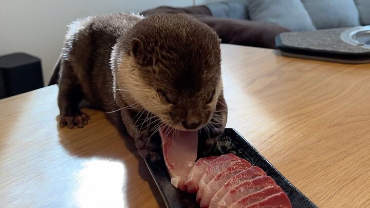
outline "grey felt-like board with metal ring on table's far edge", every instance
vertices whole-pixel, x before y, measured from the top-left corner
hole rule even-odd
[[[370,26],[284,32],[275,37],[284,56],[346,64],[370,63]]]

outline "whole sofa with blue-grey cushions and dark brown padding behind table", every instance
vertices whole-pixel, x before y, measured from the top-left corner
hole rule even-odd
[[[275,48],[287,31],[370,25],[370,0],[230,0],[196,7],[157,7],[153,13],[188,13],[211,26],[223,43]]]

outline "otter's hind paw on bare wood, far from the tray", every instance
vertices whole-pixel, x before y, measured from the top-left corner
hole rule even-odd
[[[90,116],[80,110],[76,110],[76,112],[62,112],[59,125],[60,127],[67,125],[68,128],[74,128],[77,125],[77,127],[82,128],[88,123],[88,120],[90,120]]]

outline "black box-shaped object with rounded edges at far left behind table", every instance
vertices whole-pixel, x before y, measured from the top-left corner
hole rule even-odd
[[[41,60],[27,53],[0,56],[0,99],[44,87]]]

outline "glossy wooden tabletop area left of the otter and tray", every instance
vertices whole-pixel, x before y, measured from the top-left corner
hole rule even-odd
[[[0,207],[162,207],[132,140],[89,109],[84,128],[59,128],[57,93],[0,101]]]

